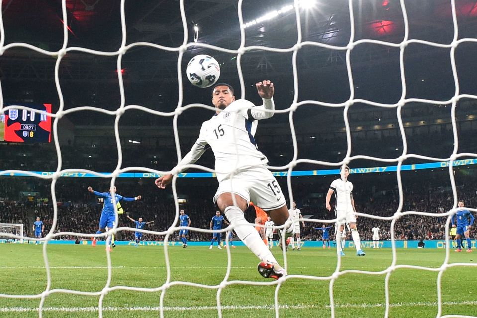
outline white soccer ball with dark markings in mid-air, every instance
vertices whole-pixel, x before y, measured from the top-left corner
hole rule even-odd
[[[219,79],[220,66],[210,55],[199,54],[187,64],[186,75],[192,85],[200,88],[210,87]]]

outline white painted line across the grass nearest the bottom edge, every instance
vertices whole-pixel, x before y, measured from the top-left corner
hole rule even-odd
[[[442,305],[477,305],[477,301],[464,301],[464,302],[443,302]],[[380,308],[384,307],[384,304],[336,304],[335,308]],[[416,303],[394,303],[390,304],[390,307],[429,307],[437,306],[436,302],[416,302]],[[330,308],[329,305],[279,305],[280,309],[313,309],[313,308]],[[119,312],[119,311],[160,311],[160,307],[103,307],[103,311]],[[246,306],[222,306],[224,310],[259,310],[275,309],[272,305],[246,305]],[[191,306],[191,307],[164,307],[165,311],[202,311],[202,310],[217,310],[216,306]],[[19,313],[19,312],[37,312],[38,308],[31,307],[0,307],[2,313]],[[96,312],[98,307],[44,307],[42,312]]]

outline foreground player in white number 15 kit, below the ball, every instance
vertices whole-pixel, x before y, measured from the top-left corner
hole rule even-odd
[[[289,217],[282,190],[267,169],[268,159],[258,150],[254,138],[258,120],[274,114],[274,85],[270,80],[264,80],[255,86],[263,100],[263,105],[258,107],[244,99],[235,100],[234,89],[229,84],[215,84],[212,90],[215,114],[202,124],[191,151],[174,170],[176,173],[182,171],[184,165],[197,161],[207,146],[212,148],[219,181],[214,201],[234,226],[237,236],[260,259],[259,273],[265,278],[278,279],[286,274],[285,270],[244,216],[248,202],[252,200],[278,226],[285,224]],[[172,177],[172,174],[164,175],[156,180],[156,185],[164,189],[172,182]],[[283,232],[288,237],[293,234],[293,227]]]

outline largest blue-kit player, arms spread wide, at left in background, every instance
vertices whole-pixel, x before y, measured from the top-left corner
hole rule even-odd
[[[141,200],[140,195],[134,198],[127,198],[127,197],[123,197],[122,195],[116,194],[116,187],[111,188],[109,190],[110,192],[97,192],[93,190],[92,187],[88,187],[88,191],[90,191],[97,197],[104,198],[104,205],[101,211],[101,218],[99,219],[99,230],[96,232],[96,234],[103,233],[106,227],[108,229],[112,229],[112,227],[114,226],[116,217],[114,215],[114,202],[110,192],[114,193],[116,203],[121,200],[123,201]],[[108,251],[112,251],[110,243],[111,243],[111,239],[108,237],[106,239],[106,250]],[[93,238],[92,245],[93,247],[96,246],[96,237]]]

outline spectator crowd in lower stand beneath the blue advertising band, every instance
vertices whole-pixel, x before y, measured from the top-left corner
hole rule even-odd
[[[356,177],[355,177],[356,178]],[[83,179],[68,180],[57,182],[55,191],[57,195],[58,222],[55,233],[58,232],[77,232],[82,234],[93,234],[97,231],[102,203],[90,195],[86,188],[88,184]],[[87,180],[88,181],[88,180]],[[150,180],[147,180],[150,181]],[[95,182],[98,191],[107,191],[109,184]],[[175,218],[175,206],[170,197],[164,197],[149,184],[150,182],[123,182],[119,181],[118,193],[124,196],[141,195],[142,200],[136,202],[122,202],[124,211],[134,219],[142,217],[144,221],[154,221],[153,225],[148,225],[145,229],[152,231],[166,231],[173,225]],[[295,199],[302,215],[308,219],[331,220],[334,213],[328,212],[324,208],[323,202],[316,199],[303,198],[303,189],[308,186],[296,184],[296,192],[300,195]],[[190,188],[196,188],[191,186]],[[191,191],[190,188],[188,191]],[[210,189],[209,189],[210,188]],[[211,191],[212,187],[204,187],[202,191]],[[324,188],[326,188],[324,186]],[[18,193],[25,189],[35,190],[39,197],[48,197],[50,193],[50,184],[42,180],[32,178],[24,179],[2,179],[0,180],[0,223],[23,223],[25,225],[25,234],[31,236],[28,216],[36,217],[45,224],[45,232],[50,231],[53,222],[53,207],[51,199],[28,201],[18,197]],[[391,219],[399,206],[399,194],[397,189],[375,191],[369,195],[368,189],[360,189],[357,186],[354,192],[355,204],[359,213],[370,216],[379,216],[387,219],[376,219],[367,216],[359,216],[358,229],[362,240],[371,240],[371,228],[378,226],[381,229],[381,239],[389,240],[391,238]],[[453,197],[449,188],[435,187],[429,188],[426,193],[416,192],[414,188],[407,188],[403,195],[403,207],[401,211],[420,211],[431,213],[445,213],[452,208]],[[467,207],[477,206],[477,193],[475,190],[466,189],[463,186],[458,187],[459,199],[466,202]],[[211,195],[209,195],[211,197]],[[191,226],[199,229],[208,229],[211,217],[216,209],[211,200],[207,200],[206,194],[194,193],[190,195],[186,203],[181,204],[186,214],[191,218]],[[322,198],[321,198],[322,199]],[[253,211],[248,210],[246,217],[253,222],[255,215]],[[415,239],[444,239],[446,216],[421,216],[416,214],[400,216],[395,222],[394,233],[396,239],[415,240]],[[321,240],[321,231],[314,228],[320,227],[327,222],[305,222],[305,227],[301,229],[303,240]],[[125,214],[119,215],[119,227],[130,227],[130,230],[120,231],[116,235],[119,240],[134,239],[134,224],[126,218]],[[331,239],[334,230],[331,231]],[[472,232],[471,232],[472,236]],[[198,231],[189,232],[190,241],[209,240],[211,235]],[[58,239],[76,239],[74,236],[61,235]],[[80,239],[88,239],[81,236]],[[145,234],[143,240],[161,241],[164,235]],[[176,240],[177,232],[169,240]]]

